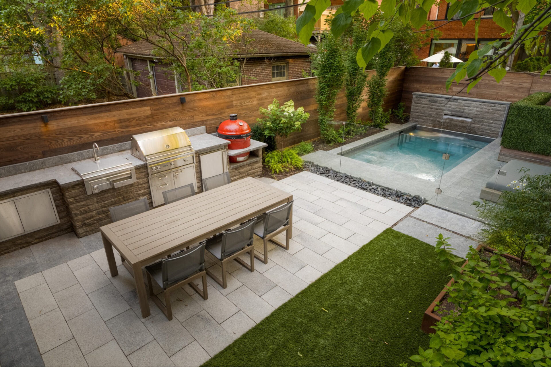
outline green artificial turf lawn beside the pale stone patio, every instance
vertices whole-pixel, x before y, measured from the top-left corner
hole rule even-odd
[[[423,313],[451,272],[434,249],[386,229],[204,366],[412,365],[429,343]]]

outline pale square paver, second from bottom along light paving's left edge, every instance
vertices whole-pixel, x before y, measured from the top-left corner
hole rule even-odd
[[[58,308],[29,320],[29,324],[41,354],[73,338]]]

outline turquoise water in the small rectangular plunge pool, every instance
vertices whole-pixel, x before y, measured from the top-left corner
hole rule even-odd
[[[343,156],[436,181],[491,141],[484,140],[415,129],[393,134],[383,141],[345,152]],[[449,160],[442,159],[444,153],[450,155]]]

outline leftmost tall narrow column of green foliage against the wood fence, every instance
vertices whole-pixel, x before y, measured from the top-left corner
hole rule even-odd
[[[316,102],[318,123],[322,138],[329,144],[339,141],[339,134],[329,122],[335,116],[337,94],[344,80],[344,52],[342,43],[330,32],[324,32],[317,52],[312,60],[314,75],[317,76]]]

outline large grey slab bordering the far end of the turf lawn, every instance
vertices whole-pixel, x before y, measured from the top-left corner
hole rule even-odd
[[[431,224],[418,221],[417,219],[414,219],[412,217],[408,217],[402,222],[399,222],[394,227],[394,229],[398,232],[410,235],[411,237],[422,240],[423,242],[426,242],[433,246],[436,244],[435,237],[442,233],[444,237],[450,237],[448,242],[450,243],[452,248],[455,248],[453,253],[461,256],[462,258],[464,258],[467,254],[469,246],[476,248],[478,245],[471,239],[464,238],[458,234],[445,231],[444,229],[432,226]]]

